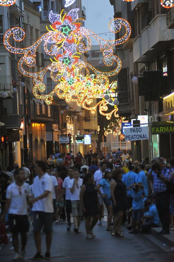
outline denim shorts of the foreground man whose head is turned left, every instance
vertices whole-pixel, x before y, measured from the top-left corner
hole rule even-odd
[[[38,232],[44,226],[45,233],[52,232],[53,213],[33,211],[33,231]]]

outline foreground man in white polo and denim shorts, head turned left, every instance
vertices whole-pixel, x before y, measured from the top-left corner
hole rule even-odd
[[[37,253],[33,260],[43,259],[41,253],[41,236],[40,231],[42,225],[46,233],[46,253],[45,259],[50,259],[50,248],[52,241],[52,222],[53,222],[53,183],[51,176],[46,173],[46,163],[44,161],[36,161],[35,172],[38,176],[33,182],[33,231]]]

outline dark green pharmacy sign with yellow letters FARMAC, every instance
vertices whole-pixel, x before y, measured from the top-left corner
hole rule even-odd
[[[152,125],[152,134],[172,134],[174,133],[174,122],[156,122]]]

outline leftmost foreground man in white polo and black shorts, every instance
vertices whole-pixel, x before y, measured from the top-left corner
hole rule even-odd
[[[27,216],[28,197],[30,188],[25,180],[25,171],[22,168],[16,169],[14,172],[15,182],[7,187],[6,192],[6,206],[1,217],[3,222],[7,212],[9,228],[12,232],[12,243],[15,250],[14,261],[24,258],[25,247],[27,243],[27,232],[29,229],[29,222]],[[19,239],[18,233],[21,234],[21,255],[19,254]]]

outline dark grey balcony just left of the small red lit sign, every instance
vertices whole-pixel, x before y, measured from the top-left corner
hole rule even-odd
[[[20,129],[21,116],[9,115],[9,116],[4,116],[3,119],[6,129]]]

